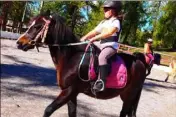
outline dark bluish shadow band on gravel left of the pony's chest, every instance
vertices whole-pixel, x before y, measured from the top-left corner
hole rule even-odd
[[[33,85],[56,86],[56,70],[22,63],[21,65],[1,64],[1,79],[21,78],[31,81]]]

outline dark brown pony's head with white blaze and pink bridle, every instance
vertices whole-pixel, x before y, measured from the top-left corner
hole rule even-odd
[[[17,47],[24,51],[39,46],[42,39],[46,37],[48,27],[51,23],[50,11],[41,13],[30,22],[28,30],[17,40]]]

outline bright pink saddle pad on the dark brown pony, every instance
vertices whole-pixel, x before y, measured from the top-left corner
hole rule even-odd
[[[91,80],[98,78],[94,67],[89,69],[89,77]],[[116,60],[111,63],[111,73],[107,77],[106,88],[124,88],[127,83],[127,69],[121,57],[116,56]]]

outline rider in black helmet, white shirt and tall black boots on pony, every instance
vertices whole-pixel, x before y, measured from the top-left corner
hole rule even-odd
[[[97,92],[105,89],[106,77],[109,75],[110,66],[107,59],[117,52],[118,38],[121,31],[119,12],[122,9],[120,1],[105,1],[103,5],[104,20],[95,29],[81,38],[81,41],[90,40],[101,52],[98,57],[99,78],[93,89]]]

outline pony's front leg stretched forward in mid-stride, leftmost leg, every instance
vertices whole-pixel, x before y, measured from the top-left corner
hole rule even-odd
[[[77,94],[74,92],[73,86],[61,91],[59,96],[45,109],[43,117],[49,117],[55,110],[72,100]],[[70,111],[69,111],[70,114]]]

